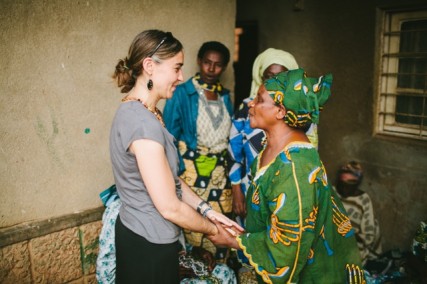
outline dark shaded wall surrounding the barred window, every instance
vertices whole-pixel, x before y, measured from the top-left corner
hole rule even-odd
[[[294,3],[303,10],[294,11]],[[333,73],[333,94],[320,116],[320,155],[331,183],[342,163],[361,161],[362,189],[373,199],[386,250],[409,249],[419,222],[427,219],[427,144],[373,135],[376,10],[416,3],[425,5],[417,0],[237,1],[237,20],[258,23],[260,51],[281,48],[309,75]]]

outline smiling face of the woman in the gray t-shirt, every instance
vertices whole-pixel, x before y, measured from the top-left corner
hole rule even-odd
[[[162,99],[172,97],[176,86],[184,80],[182,75],[182,66],[184,65],[184,53],[181,51],[174,57],[163,60],[161,63],[154,64],[152,81],[153,90],[159,94]]]

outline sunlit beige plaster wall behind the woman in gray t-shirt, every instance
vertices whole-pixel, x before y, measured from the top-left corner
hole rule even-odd
[[[185,78],[203,42],[234,52],[235,0],[2,0],[0,11],[0,228],[101,206],[122,98],[111,75],[137,33],[180,39]]]

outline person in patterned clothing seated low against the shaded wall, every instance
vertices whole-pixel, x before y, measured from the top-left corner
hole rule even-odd
[[[363,264],[366,264],[368,259],[376,259],[382,250],[371,198],[359,188],[362,178],[361,165],[351,161],[339,169],[335,190],[351,220]]]

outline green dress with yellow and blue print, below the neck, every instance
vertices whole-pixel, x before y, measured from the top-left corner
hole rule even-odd
[[[290,143],[263,168],[261,157],[237,238],[259,283],[364,283],[354,230],[313,145]]]

